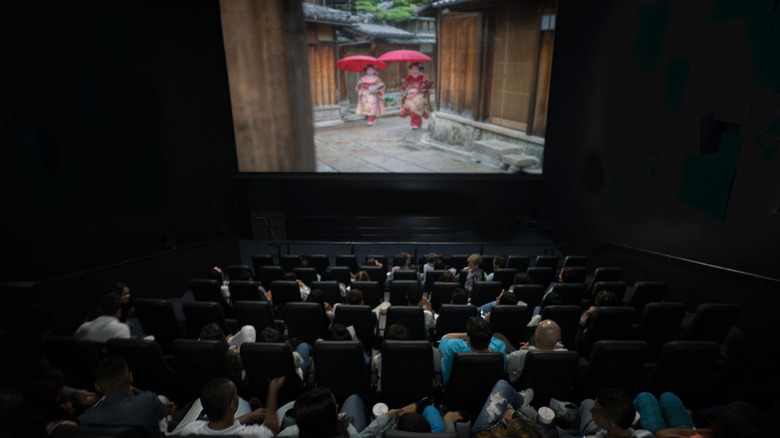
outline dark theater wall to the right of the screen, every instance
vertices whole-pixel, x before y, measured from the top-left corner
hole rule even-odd
[[[775,3],[559,2],[554,240],[780,276]]]

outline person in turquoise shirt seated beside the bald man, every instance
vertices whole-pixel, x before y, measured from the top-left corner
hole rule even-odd
[[[441,354],[442,383],[447,384],[452,370],[452,357],[459,351],[477,353],[498,352],[504,356],[506,366],[506,344],[493,337],[493,328],[482,318],[472,316],[466,323],[466,333],[447,333],[439,342]]]

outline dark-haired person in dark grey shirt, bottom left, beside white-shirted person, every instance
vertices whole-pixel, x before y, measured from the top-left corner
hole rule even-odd
[[[83,426],[136,426],[147,437],[163,436],[160,420],[173,412],[173,402],[131,386],[133,375],[120,357],[107,357],[95,369],[95,389],[103,397],[79,417]],[[166,406],[167,405],[167,406]]]

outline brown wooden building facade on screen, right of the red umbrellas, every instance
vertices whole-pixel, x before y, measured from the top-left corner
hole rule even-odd
[[[544,137],[556,0],[434,7],[438,110]]]

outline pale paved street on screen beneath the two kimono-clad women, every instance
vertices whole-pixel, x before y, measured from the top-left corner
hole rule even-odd
[[[408,118],[388,115],[366,126],[363,120],[315,128],[317,172],[350,173],[493,173],[423,144],[429,120],[412,130]]]

